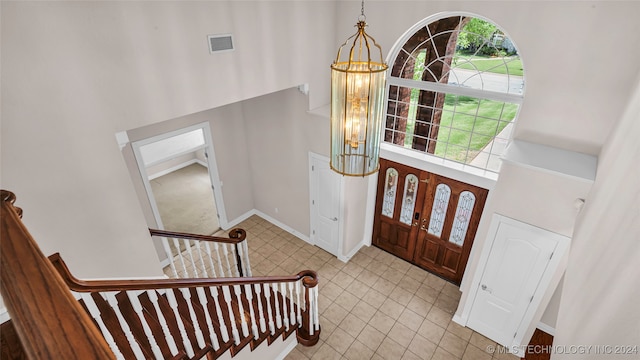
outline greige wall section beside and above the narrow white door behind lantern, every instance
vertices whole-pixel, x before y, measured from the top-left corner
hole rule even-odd
[[[309,236],[309,151],[328,155],[328,119],[296,89],[242,103],[255,209]],[[277,209],[277,210],[276,210]]]

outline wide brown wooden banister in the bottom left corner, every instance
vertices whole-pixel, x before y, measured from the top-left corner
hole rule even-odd
[[[29,359],[115,359],[21,221],[15,195],[0,190],[0,290]]]

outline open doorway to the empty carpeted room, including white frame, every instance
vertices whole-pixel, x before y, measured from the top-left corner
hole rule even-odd
[[[208,123],[132,147],[158,228],[212,235],[226,225]]]

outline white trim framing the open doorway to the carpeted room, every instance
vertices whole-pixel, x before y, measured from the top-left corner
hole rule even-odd
[[[146,171],[146,166],[144,165],[144,160],[142,158],[140,148],[150,143],[154,143],[160,140],[164,140],[176,135],[180,135],[180,134],[198,130],[198,129],[201,129],[204,135],[205,149],[208,154],[206,158],[207,168],[209,170],[211,185],[213,186],[214,200],[215,200],[216,210],[218,212],[220,227],[223,229],[226,229],[228,227],[228,220],[227,220],[226,211],[224,208],[224,199],[222,196],[222,182],[220,181],[220,176],[218,174],[218,166],[216,163],[215,152],[213,150],[211,128],[209,126],[209,123],[205,122],[205,123],[200,123],[196,125],[191,125],[186,128],[166,132],[160,135],[155,135],[155,136],[134,141],[131,143],[133,154],[136,159],[136,163],[138,165],[138,171],[140,171],[140,177],[142,178],[144,189],[145,189],[145,192],[147,193],[147,199],[149,200],[149,205],[151,206],[151,211],[153,212],[153,217],[155,218],[157,226],[160,229],[164,229],[164,224],[162,223],[162,219],[160,219],[160,212],[158,211],[158,205],[156,204],[155,198],[153,196],[153,192],[151,190],[151,183],[149,182],[149,176]]]

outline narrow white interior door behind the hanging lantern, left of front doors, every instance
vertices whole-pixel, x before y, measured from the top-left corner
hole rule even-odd
[[[341,176],[331,170],[329,159],[309,156],[311,231],[310,239],[318,247],[339,256]]]

